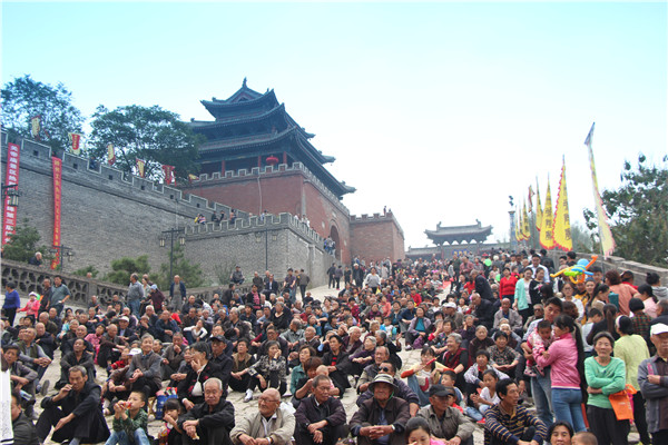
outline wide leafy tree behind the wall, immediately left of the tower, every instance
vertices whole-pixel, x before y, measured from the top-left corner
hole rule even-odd
[[[164,177],[161,165],[174,166],[178,178],[198,171],[195,160],[205,139],[195,135],[178,115],[158,106],[131,105],[112,111],[99,106],[92,118],[90,156],[106,158],[107,146],[112,144],[116,168],[131,174],[139,158],[146,162],[146,178],[151,180]]]

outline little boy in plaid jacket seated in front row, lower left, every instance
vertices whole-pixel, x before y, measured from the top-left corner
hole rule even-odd
[[[149,445],[148,414],[143,409],[145,405],[146,395],[138,390],[131,392],[127,402],[120,400],[114,405],[114,432],[106,445]]]

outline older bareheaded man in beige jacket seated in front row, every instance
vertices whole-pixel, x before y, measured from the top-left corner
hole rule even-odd
[[[268,388],[259,396],[258,411],[239,419],[229,433],[234,445],[286,445],[295,432],[295,416],[281,407],[281,393]]]

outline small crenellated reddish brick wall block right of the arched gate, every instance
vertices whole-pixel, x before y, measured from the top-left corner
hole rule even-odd
[[[404,238],[392,217],[351,220],[351,256],[366,263],[403,259]]]

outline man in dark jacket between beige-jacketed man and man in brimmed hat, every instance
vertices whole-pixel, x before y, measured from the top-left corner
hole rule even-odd
[[[303,399],[295,413],[297,445],[333,445],[346,436],[345,409],[338,398],[330,396],[331,387],[327,376],[313,379],[313,395]]]

